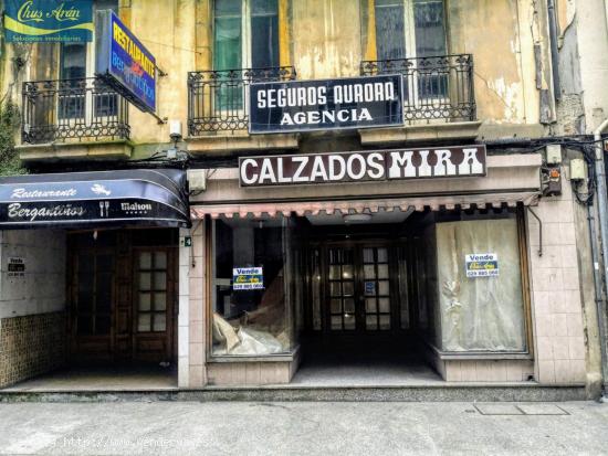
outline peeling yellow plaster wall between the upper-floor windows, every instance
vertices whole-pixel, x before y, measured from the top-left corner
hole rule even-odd
[[[158,115],[186,126],[187,74],[211,70],[213,1],[155,1],[150,8],[151,3],[120,0],[119,14],[168,73],[158,81]],[[567,40],[575,2],[559,3],[560,29]],[[300,79],[358,75],[360,61],[376,57],[374,0],[280,0],[279,6],[281,63],[294,65]],[[552,89],[546,2],[445,0],[445,11],[449,52],[474,56],[478,118],[488,125],[520,128],[538,125],[543,113],[544,121],[553,121],[552,102],[545,96],[542,105],[541,97],[542,91]],[[6,79],[11,52],[4,56]],[[27,79],[39,73],[25,68],[21,75]],[[141,148],[144,155],[168,142],[166,125],[134,107],[129,116],[133,141],[150,145]]]

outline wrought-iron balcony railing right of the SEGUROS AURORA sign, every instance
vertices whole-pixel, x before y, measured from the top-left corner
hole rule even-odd
[[[361,75],[402,74],[407,124],[475,120],[473,56],[364,61]]]

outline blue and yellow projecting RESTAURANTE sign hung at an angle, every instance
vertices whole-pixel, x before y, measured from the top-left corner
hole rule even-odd
[[[111,10],[95,17],[95,73],[146,113],[156,110],[156,59]]]

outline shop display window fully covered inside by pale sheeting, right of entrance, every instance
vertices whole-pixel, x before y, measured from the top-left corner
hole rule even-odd
[[[437,223],[434,233],[439,307],[434,325],[441,350],[525,351],[515,214]]]

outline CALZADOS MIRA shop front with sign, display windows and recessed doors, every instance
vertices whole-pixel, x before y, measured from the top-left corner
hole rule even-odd
[[[245,156],[209,172],[191,200],[208,274],[190,278],[208,383],[298,382],[318,363],[339,380],[348,363],[387,362],[537,379],[539,167],[473,145]]]

